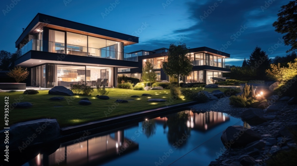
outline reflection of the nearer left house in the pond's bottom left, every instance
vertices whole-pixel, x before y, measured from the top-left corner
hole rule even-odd
[[[39,154],[30,165],[98,165],[138,149],[138,143],[124,138],[124,130],[114,134],[62,143],[53,154]]]

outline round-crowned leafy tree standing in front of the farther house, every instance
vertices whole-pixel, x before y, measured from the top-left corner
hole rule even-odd
[[[170,44],[168,51],[167,62],[163,63],[165,74],[177,77],[178,79],[179,76],[188,76],[192,71],[193,65],[186,44],[178,46]]]

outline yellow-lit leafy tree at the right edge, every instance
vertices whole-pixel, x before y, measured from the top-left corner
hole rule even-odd
[[[266,70],[267,76],[284,84],[297,75],[297,58],[294,61],[294,63],[289,62],[288,67],[281,67],[280,63],[277,65],[271,64],[271,69]]]

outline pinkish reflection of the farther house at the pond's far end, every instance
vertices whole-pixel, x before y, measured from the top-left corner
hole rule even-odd
[[[230,120],[228,115],[221,112],[192,112],[185,111],[188,114],[187,127],[192,128],[194,130],[206,131],[209,130],[221,123]],[[157,122],[167,122],[167,117],[158,117],[156,118]]]

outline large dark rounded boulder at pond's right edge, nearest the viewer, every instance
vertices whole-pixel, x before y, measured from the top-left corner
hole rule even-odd
[[[226,148],[237,148],[262,139],[261,135],[243,126],[229,126],[223,131],[221,141]]]

